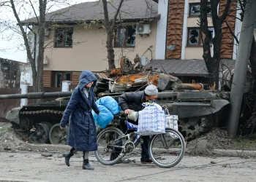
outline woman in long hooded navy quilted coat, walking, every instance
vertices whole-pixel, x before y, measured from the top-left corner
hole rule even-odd
[[[72,147],[64,154],[66,165],[75,152],[83,151],[83,169],[94,170],[89,164],[89,151],[97,151],[97,130],[91,108],[99,114],[99,108],[95,103],[94,87],[96,76],[91,71],[83,71],[80,74],[79,85],[75,87],[71,98],[61,119],[61,130],[69,122],[69,134],[67,144]]]

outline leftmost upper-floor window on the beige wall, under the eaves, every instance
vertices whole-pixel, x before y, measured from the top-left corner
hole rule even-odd
[[[73,28],[56,28],[55,47],[72,47]]]

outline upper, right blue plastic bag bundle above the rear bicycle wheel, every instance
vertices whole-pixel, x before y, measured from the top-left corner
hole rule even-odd
[[[99,98],[96,101],[97,105],[102,105],[108,108],[114,115],[118,114],[121,110],[120,106],[116,102],[115,99],[111,98],[110,96],[105,96],[103,98]]]

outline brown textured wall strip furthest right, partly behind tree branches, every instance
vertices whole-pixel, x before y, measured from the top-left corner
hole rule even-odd
[[[221,0],[219,5],[219,15],[222,15],[225,6],[226,6],[227,0]],[[231,2],[230,5],[230,15],[227,16],[226,21],[228,25],[230,25],[231,30],[233,33],[235,33],[235,26],[236,26],[236,6],[237,1],[234,0]],[[226,23],[224,22],[222,24],[222,50],[221,50],[221,58],[222,59],[232,59],[233,58],[233,44],[234,44],[234,38],[232,34],[230,33],[229,28],[227,27]]]

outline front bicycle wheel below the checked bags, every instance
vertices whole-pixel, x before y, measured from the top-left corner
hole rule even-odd
[[[186,143],[180,132],[166,128],[165,134],[154,135],[149,146],[152,161],[159,167],[173,167],[181,162]]]

